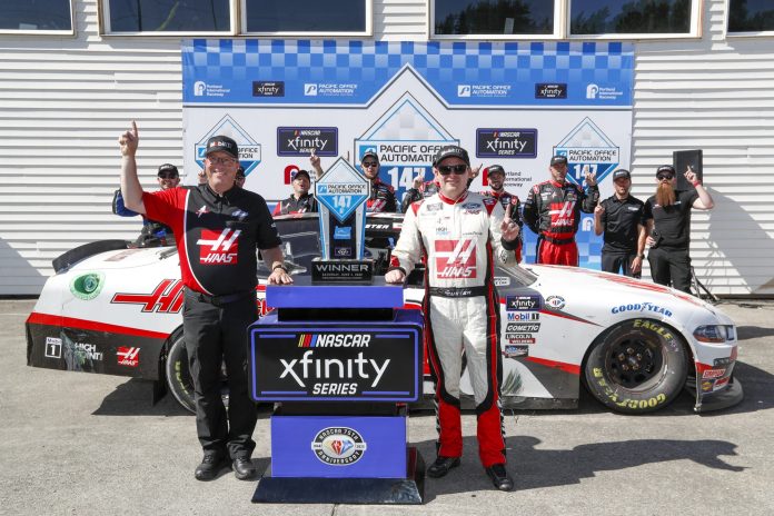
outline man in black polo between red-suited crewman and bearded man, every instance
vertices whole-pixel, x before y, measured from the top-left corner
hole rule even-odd
[[[645,258],[645,202],[629,194],[632,175],[619,168],[613,172],[615,194],[594,209],[594,232],[603,232],[602,270],[639,278]]]

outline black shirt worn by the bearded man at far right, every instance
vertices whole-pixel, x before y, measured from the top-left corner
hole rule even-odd
[[[663,237],[661,247],[687,249],[691,247],[691,208],[698,198],[696,190],[676,190],[675,204],[662,207],[656,196],[645,202],[645,220],[653,219],[653,228]]]

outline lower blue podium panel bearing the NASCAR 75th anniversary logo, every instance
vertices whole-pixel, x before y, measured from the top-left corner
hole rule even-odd
[[[405,478],[406,417],[272,416],[271,476]]]

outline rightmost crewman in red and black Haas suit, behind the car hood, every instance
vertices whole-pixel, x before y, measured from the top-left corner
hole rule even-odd
[[[578,266],[575,234],[580,211],[593,214],[599,200],[596,172],[586,172],[586,194],[566,180],[567,157],[550,158],[550,180],[535,185],[524,204],[524,221],[537,234],[536,264]]]

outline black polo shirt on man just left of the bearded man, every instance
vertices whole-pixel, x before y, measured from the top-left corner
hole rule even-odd
[[[601,218],[605,231],[602,250],[636,254],[638,225],[645,225],[645,202],[632,196],[623,200],[612,196],[602,201],[602,207],[605,208]]]

